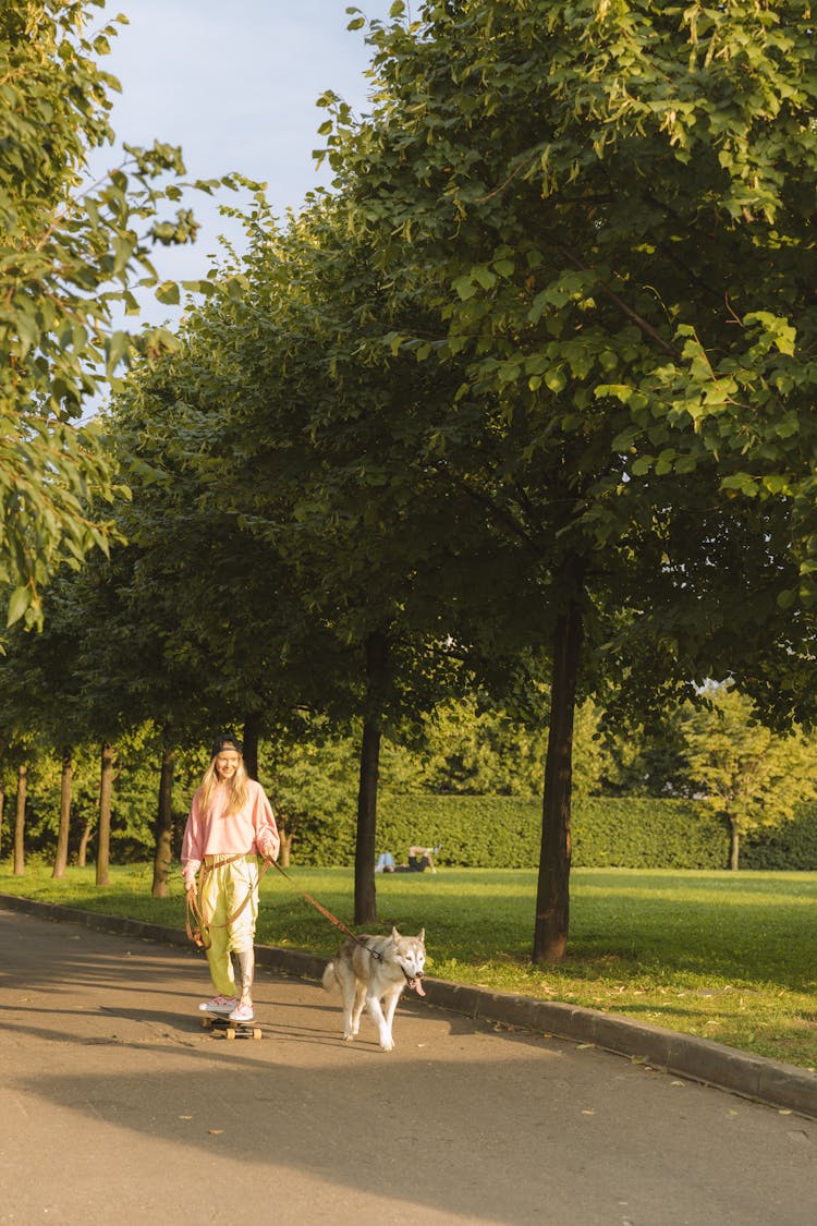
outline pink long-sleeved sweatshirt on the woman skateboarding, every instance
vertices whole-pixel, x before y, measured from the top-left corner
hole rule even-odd
[[[192,805],[181,840],[181,870],[185,888],[194,884],[205,856],[236,856],[256,852],[265,859],[277,859],[280,839],[272,805],[260,783],[247,780],[246,804],[239,813],[224,815],[228,788],[218,786],[207,813]]]

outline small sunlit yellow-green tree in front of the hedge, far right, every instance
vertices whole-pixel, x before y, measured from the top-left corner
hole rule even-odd
[[[697,794],[729,824],[736,870],[742,835],[790,820],[800,803],[817,796],[813,737],[800,729],[775,736],[732,689],[718,687],[707,698],[707,706],[686,714],[686,755]]]

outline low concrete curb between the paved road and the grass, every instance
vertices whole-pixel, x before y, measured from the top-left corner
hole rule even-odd
[[[96,911],[80,911],[53,902],[37,902],[11,894],[0,894],[0,906],[27,911],[42,920],[81,924],[96,932],[191,948],[186,933],[162,924],[125,920],[121,916]],[[256,961],[283,975],[312,981],[321,978],[326,966],[326,960],[315,954],[282,949],[277,945],[256,945]],[[751,1056],[707,1038],[663,1030],[660,1026],[600,1013],[597,1009],[583,1009],[556,1000],[539,1000],[535,997],[512,996],[508,992],[489,992],[430,977],[424,980],[424,984],[426,1000],[440,1009],[461,1013],[480,1021],[518,1026],[572,1042],[593,1045],[668,1073],[677,1073],[692,1081],[714,1085],[742,1097],[817,1119],[817,1074],[794,1064],[784,1064],[763,1056]]]

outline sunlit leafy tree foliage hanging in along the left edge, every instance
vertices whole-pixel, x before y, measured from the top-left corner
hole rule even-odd
[[[180,197],[178,148],[127,148],[121,166],[87,183],[91,152],[113,141],[119,88],[98,60],[126,20],[93,29],[103,7],[6,0],[0,11],[0,584],[9,622],[27,625],[42,622],[49,576],[115,536],[104,505],[119,489],[115,467],[98,424],[77,419],[131,345],[169,342],[160,329],[138,342],[114,330],[113,311],[137,310],[137,280],[157,284],[156,243],[196,233],[187,210],[159,217]],[[157,292],[178,298],[170,284]]]

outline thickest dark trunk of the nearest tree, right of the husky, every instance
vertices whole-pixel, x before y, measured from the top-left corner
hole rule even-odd
[[[541,851],[533,935],[534,962],[561,962],[567,948],[571,869],[573,712],[582,651],[582,612],[576,596],[556,622],[545,763]]]

